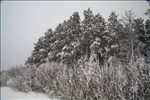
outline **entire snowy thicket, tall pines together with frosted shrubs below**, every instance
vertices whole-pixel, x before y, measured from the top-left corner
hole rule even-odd
[[[62,100],[150,99],[150,9],[106,21],[92,10],[77,12],[49,29],[25,66],[2,71],[1,86],[36,91]]]

